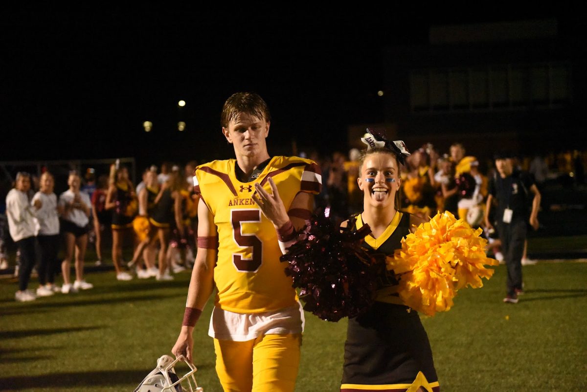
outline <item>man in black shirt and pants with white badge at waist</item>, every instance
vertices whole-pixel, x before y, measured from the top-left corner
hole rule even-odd
[[[523,293],[522,254],[527,224],[529,223],[534,230],[538,229],[541,196],[531,175],[514,170],[511,154],[495,154],[495,168],[498,174],[489,184],[489,195],[485,204],[485,227],[493,227],[488,217],[495,199],[497,210],[494,216],[508,269],[507,296],[504,302],[517,303],[518,295]]]

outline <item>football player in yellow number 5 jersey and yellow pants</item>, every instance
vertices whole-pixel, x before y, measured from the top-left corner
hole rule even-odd
[[[225,391],[293,391],[298,373],[303,312],[279,256],[310,217],[322,180],[311,160],[269,156],[270,124],[260,96],[232,95],[221,126],[236,159],[194,175],[198,252],[172,352],[193,360],[194,325],[216,288],[209,334]]]

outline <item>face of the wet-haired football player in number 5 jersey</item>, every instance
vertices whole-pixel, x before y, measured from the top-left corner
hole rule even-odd
[[[234,146],[237,156],[255,157],[267,154],[265,138],[269,134],[269,123],[265,119],[238,113],[228,124],[222,127],[222,133],[228,143]]]

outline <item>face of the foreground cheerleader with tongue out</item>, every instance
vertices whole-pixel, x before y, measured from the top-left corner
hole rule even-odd
[[[357,179],[363,191],[365,207],[395,206],[396,192],[400,187],[400,173],[397,160],[391,154],[371,154],[365,158]]]

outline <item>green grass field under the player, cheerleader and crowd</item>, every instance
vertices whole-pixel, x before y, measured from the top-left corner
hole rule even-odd
[[[173,282],[86,278],[94,289],[32,303],[16,303],[14,279],[0,280],[0,391],[132,391],[170,353],[188,273]],[[423,319],[444,392],[585,390],[587,263],[526,266],[524,281],[520,302],[505,305],[498,266],[484,288],[461,290],[450,312]],[[195,364],[200,386],[215,392],[209,315],[207,306],[194,332]],[[306,314],[296,391],[338,390],[345,328]]]

